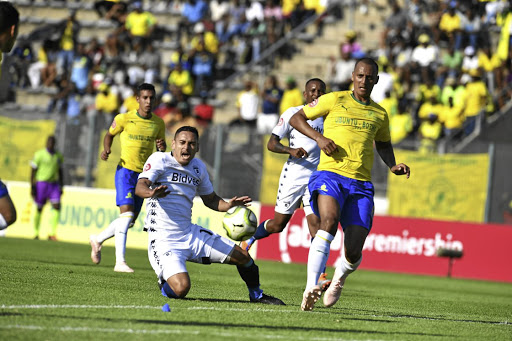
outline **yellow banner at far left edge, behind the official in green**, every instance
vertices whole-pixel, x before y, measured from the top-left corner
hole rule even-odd
[[[0,179],[29,181],[34,153],[46,146],[55,132],[54,120],[23,121],[8,117],[0,120]]]

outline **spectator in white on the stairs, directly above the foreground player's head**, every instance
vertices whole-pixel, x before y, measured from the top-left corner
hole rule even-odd
[[[356,65],[356,61],[351,56],[350,45],[340,45],[340,56],[339,58],[330,58],[331,67],[327,74],[329,86],[333,91],[348,90],[350,84],[352,84],[352,71]]]

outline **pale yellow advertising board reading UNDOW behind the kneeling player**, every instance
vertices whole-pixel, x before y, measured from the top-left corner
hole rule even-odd
[[[7,237],[34,238],[33,215],[36,209],[30,196],[30,186],[22,182],[6,182],[9,194],[16,206],[17,221],[5,231]],[[41,228],[39,238],[48,238],[50,231],[50,204],[46,204],[41,215]],[[251,209],[259,215],[259,204],[253,203]],[[225,236],[222,228],[223,212],[212,211],[204,206],[198,197],[194,200],[192,208],[192,222],[208,228]],[[98,190],[83,187],[64,187],[62,195],[62,208],[57,238],[60,241],[72,243],[89,243],[90,234],[98,234],[107,228],[111,221],[119,216],[119,209],[115,205],[114,190]],[[146,249],[147,234],[143,231],[145,205],[137,218],[135,225],[128,231],[126,245],[129,248]],[[104,245],[114,245],[114,238]]]

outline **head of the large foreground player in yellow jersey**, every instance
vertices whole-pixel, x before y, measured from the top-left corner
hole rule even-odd
[[[359,59],[352,72],[354,82],[354,97],[362,102],[370,99],[373,87],[379,81],[379,66],[372,58]]]

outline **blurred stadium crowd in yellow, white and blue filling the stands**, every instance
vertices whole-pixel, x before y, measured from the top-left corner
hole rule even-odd
[[[328,61],[327,75],[319,76],[328,80],[330,90],[349,89],[355,61],[374,57],[380,80],[372,98],[390,115],[393,143],[433,152],[442,138],[470,134],[479,118],[510,98],[510,1],[388,3],[391,14],[384,22],[380,47],[369,50],[359,42],[358,32],[346,31],[339,56]],[[12,52],[14,84],[57,88],[49,111],[73,118],[95,110],[104,114],[108,125],[113,115],[136,105],[134,86],[153,83],[160,101],[155,113],[164,118],[169,133],[184,123],[202,129],[213,119],[215,108],[208,94],[215,80],[225,79],[237,65],[257,60],[305,18],[322,14],[325,4],[319,0],[97,1],[98,16],[115,23],[105,41],[81,37],[76,11],[71,11],[66,20],[52,26],[53,31],[36,29],[26,39],[20,37]],[[363,1],[359,9],[364,13],[372,5],[376,4]],[[179,15],[175,29],[157,21],[152,13],[157,10]],[[162,60],[159,44],[168,36],[176,46],[170,60]],[[42,41],[38,51],[33,50],[34,39]],[[277,54],[291,58],[293,51],[289,43]],[[247,82],[237,98],[240,117],[232,124],[249,124],[268,133],[283,105],[298,101],[302,99],[293,78],[286,79],[286,89],[274,75],[261,90]]]

